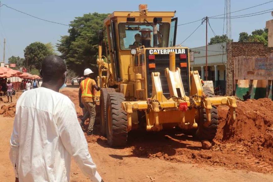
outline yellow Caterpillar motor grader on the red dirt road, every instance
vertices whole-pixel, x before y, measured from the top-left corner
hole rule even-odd
[[[236,100],[214,97],[202,88],[198,71],[190,71],[189,49],[175,44],[178,19],[173,17],[174,12],[150,12],[142,4],[138,11],[109,14],[98,32],[96,100],[101,132],[112,147],[126,145],[128,132],[137,128],[179,127],[212,140],[217,105],[229,106],[235,120]]]

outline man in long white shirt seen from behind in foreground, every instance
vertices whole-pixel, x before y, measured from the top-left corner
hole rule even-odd
[[[75,105],[59,93],[66,87],[64,60],[45,57],[40,74],[41,87],[24,92],[16,105],[9,153],[15,180],[68,182],[73,157],[89,179],[103,182],[89,154]]]

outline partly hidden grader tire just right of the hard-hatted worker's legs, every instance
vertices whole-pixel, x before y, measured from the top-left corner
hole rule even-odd
[[[107,95],[109,93],[115,92],[114,88],[102,88],[100,90],[100,132],[103,136],[106,136],[106,104],[107,104]]]

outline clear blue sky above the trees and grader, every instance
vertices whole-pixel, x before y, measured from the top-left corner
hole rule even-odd
[[[236,11],[270,0],[231,0],[231,11]],[[69,24],[74,17],[84,13],[112,13],[113,11],[135,11],[138,4],[148,4],[149,11],[174,11],[178,17],[178,24],[188,23],[205,16],[214,16],[224,13],[224,0],[195,0],[170,2],[155,0],[121,1],[121,0],[1,0],[1,3],[29,13],[42,19],[47,19],[63,24]],[[273,2],[248,10],[232,13],[232,16],[255,13],[273,8]],[[249,34],[255,29],[265,28],[265,22],[272,19],[271,13],[247,18],[232,19],[232,38],[238,41],[240,32]],[[223,20],[211,19],[211,27],[217,35],[222,35]],[[178,27],[176,43],[181,43],[201,24],[201,21]],[[3,60],[3,39],[6,38],[6,62],[8,57],[24,56],[24,48],[32,42],[52,42],[56,44],[61,35],[67,35],[67,26],[48,23],[16,12],[5,6],[0,12],[0,60]],[[225,28],[226,31],[226,28]],[[208,30],[209,38],[213,37]],[[203,24],[183,45],[198,47],[206,44],[206,25]]]

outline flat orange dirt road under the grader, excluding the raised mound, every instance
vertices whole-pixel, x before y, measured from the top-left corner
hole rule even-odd
[[[80,116],[76,86],[62,92],[72,99]],[[0,181],[3,182],[14,180],[8,158],[12,127],[13,118],[0,117]],[[99,125],[95,130],[99,130]],[[257,158],[236,142],[216,140],[211,150],[203,150],[200,142],[177,131],[130,133],[125,148],[109,148],[98,132],[87,136],[87,141],[104,181],[273,181],[272,160]],[[90,181],[74,162],[71,181]]]

